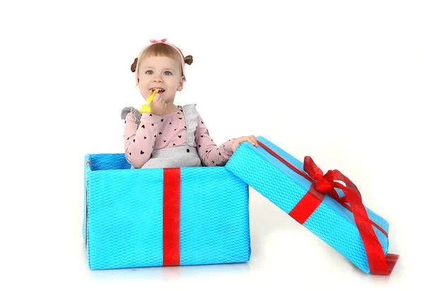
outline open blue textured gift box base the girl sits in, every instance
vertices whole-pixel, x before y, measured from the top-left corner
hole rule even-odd
[[[84,164],[89,268],[163,266],[164,169],[131,170],[124,153],[86,155]],[[249,261],[249,186],[225,167],[179,174],[179,266]]]

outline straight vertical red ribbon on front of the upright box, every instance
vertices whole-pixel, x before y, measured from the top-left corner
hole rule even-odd
[[[179,266],[180,169],[163,169],[163,266]]]

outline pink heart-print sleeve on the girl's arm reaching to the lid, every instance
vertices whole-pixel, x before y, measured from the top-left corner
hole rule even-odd
[[[194,132],[194,141],[196,143],[197,152],[201,160],[208,167],[225,165],[232,156],[231,145],[235,138],[232,138],[221,145],[216,145],[206,124],[198,115],[198,123]]]

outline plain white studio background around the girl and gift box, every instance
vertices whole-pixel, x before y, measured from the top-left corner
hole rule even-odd
[[[420,284],[421,1],[6,3],[1,290]],[[264,136],[353,180],[365,205],[389,221],[389,252],[400,254],[390,276],[362,273],[252,189],[249,263],[88,270],[83,158],[123,152],[121,109],[142,101],[130,65],[149,39],[163,37],[194,57],[176,102],[197,104],[214,141]]]

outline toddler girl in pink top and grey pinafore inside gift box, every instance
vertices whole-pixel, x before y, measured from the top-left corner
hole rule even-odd
[[[223,166],[240,143],[258,146],[254,136],[232,138],[217,146],[196,105],[174,104],[175,94],[184,86],[184,65],[192,62],[192,56],[184,57],[163,39],[151,40],[131,65],[145,100],[159,90],[150,103],[151,113],[122,109],[125,157],[131,169]]]

